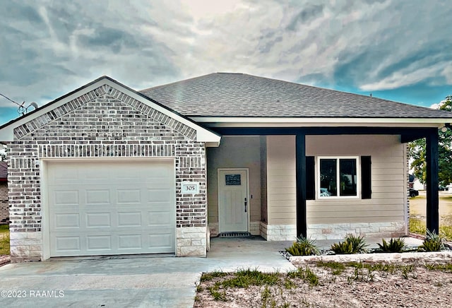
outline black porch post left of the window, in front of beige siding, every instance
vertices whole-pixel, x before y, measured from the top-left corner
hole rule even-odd
[[[306,223],[306,134],[295,138],[295,168],[297,184],[297,236],[307,236]]]

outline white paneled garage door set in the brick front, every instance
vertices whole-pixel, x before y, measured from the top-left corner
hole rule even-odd
[[[174,253],[172,161],[47,166],[50,256]]]

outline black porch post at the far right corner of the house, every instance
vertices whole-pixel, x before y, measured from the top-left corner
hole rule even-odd
[[[439,233],[439,197],[438,197],[438,130],[430,132],[426,138],[427,161],[427,230]]]

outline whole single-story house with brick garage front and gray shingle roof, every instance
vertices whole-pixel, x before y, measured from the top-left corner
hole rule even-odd
[[[241,73],[132,90],[103,76],[0,126],[11,259],[206,256],[207,235],[408,233],[408,141],[439,110]],[[427,190],[438,230],[438,191]]]

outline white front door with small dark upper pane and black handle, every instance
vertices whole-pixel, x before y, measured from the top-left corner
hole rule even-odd
[[[248,232],[248,213],[247,170],[218,170],[220,232]]]

